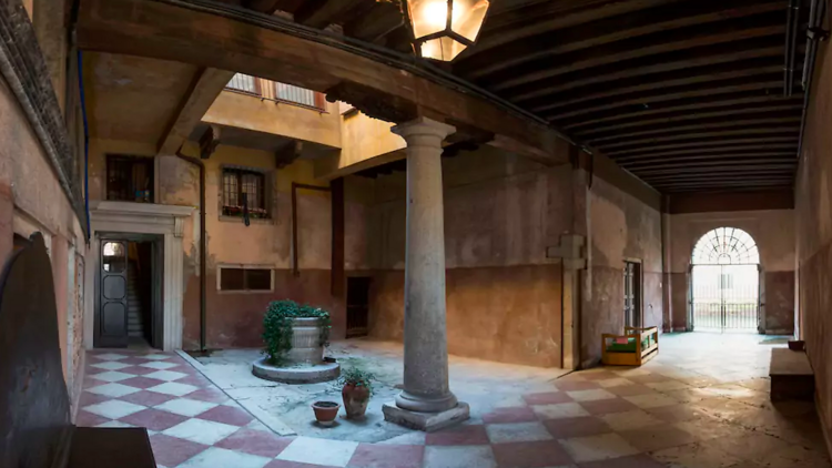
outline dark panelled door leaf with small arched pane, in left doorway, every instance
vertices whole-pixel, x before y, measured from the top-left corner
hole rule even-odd
[[[98,344],[128,346],[128,243],[101,241],[101,296]]]

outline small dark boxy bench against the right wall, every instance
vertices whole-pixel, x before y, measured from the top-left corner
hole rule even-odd
[[[814,400],[814,370],[805,352],[772,348],[769,377],[772,401]]]

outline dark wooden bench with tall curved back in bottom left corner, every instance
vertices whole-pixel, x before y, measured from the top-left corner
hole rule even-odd
[[[148,430],[75,427],[43,236],[0,273],[0,467],[155,468]]]

